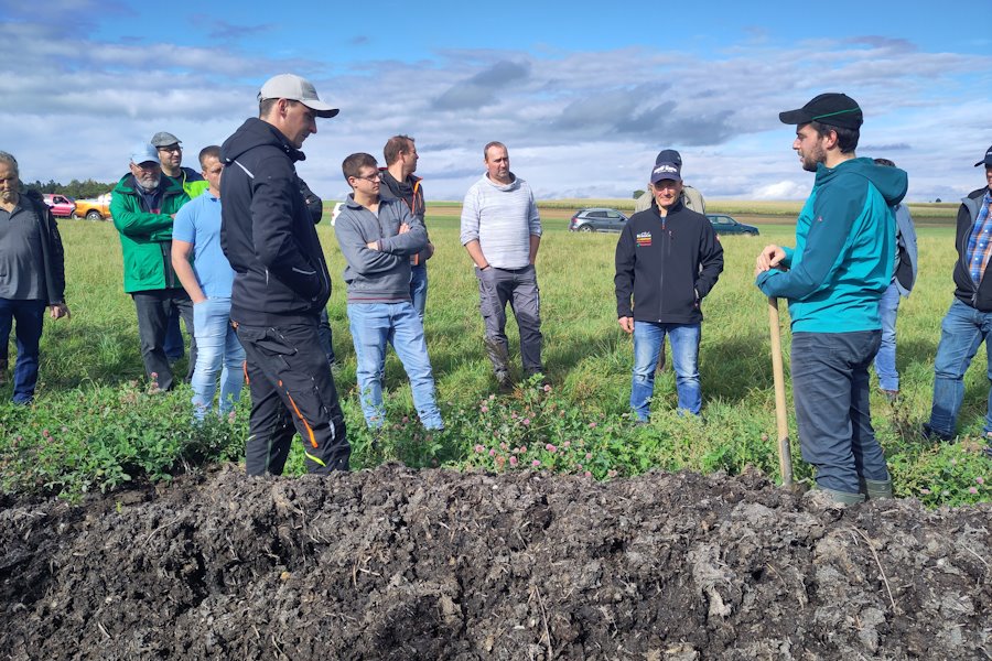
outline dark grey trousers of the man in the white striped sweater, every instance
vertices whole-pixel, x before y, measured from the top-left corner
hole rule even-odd
[[[478,307],[486,326],[486,353],[497,376],[509,369],[506,340],[506,304],[509,303],[520,329],[520,360],[526,376],[543,371],[541,365],[541,302],[533,264],[522,269],[485,271],[475,268]]]

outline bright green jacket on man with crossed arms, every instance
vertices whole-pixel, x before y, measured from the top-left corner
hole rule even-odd
[[[134,176],[126,174],[117,183],[110,198],[110,215],[120,234],[125,262],[125,292],[179,288],[182,284],[172,270],[172,216],[190,202],[186,193],[168,176],[160,213],[141,209],[134,191]]]

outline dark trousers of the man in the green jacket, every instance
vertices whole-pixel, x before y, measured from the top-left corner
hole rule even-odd
[[[158,382],[162,390],[172,390],[174,381],[165,356],[165,332],[169,316],[177,308],[190,336],[193,336],[193,302],[190,301],[190,294],[182,288],[172,288],[132,292],[131,299],[138,311],[138,339],[141,343],[144,373]],[[190,362],[196,365],[195,340],[190,342]]]

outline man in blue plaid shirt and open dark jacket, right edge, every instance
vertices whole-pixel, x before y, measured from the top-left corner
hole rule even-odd
[[[949,441],[964,399],[964,372],[985,343],[992,379],[992,278],[984,279],[992,256],[992,147],[974,164],[985,167],[985,187],[971,192],[958,209],[958,261],[955,264],[955,300],[940,325],[940,344],[934,362],[934,404],[924,435]],[[982,432],[992,442],[992,391]],[[992,447],[985,449],[992,454]]]

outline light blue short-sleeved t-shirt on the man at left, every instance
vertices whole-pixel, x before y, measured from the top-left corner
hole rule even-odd
[[[193,271],[205,296],[230,299],[234,269],[220,249],[220,199],[209,191],[183,205],[172,238],[193,243]]]

